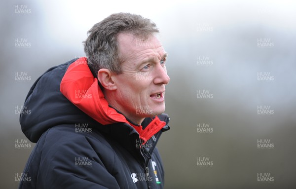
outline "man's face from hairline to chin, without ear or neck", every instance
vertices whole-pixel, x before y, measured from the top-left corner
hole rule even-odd
[[[146,40],[132,34],[119,34],[122,74],[114,76],[116,102],[131,120],[163,113],[167,75],[166,52],[155,37]],[[119,110],[120,111],[120,110]]]

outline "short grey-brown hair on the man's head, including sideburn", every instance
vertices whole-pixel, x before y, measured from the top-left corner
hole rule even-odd
[[[87,33],[89,36],[84,41],[84,52],[92,74],[97,77],[102,68],[115,74],[122,73],[118,34],[128,33],[148,38],[159,33],[159,30],[155,23],[141,15],[116,13],[95,24]]]

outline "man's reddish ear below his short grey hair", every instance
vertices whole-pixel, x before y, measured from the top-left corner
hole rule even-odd
[[[117,89],[116,83],[114,82],[114,78],[112,77],[112,73],[108,69],[102,68],[98,71],[98,80],[105,89]]]

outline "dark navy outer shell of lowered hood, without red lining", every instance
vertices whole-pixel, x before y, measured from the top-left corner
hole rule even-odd
[[[50,68],[31,87],[24,103],[24,109],[31,113],[20,114],[22,131],[31,142],[36,143],[47,129],[56,125],[82,123],[83,120],[95,122],[60,92],[61,80],[74,61]]]

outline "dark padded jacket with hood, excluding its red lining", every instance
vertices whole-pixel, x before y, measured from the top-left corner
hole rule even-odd
[[[103,125],[79,110],[61,92],[60,83],[75,60],[40,76],[26,97],[22,131],[37,145],[19,189],[162,189],[164,170],[155,148],[166,125],[142,146],[128,123]],[[151,118],[142,123],[143,128]],[[29,179],[28,179],[29,178]]]

